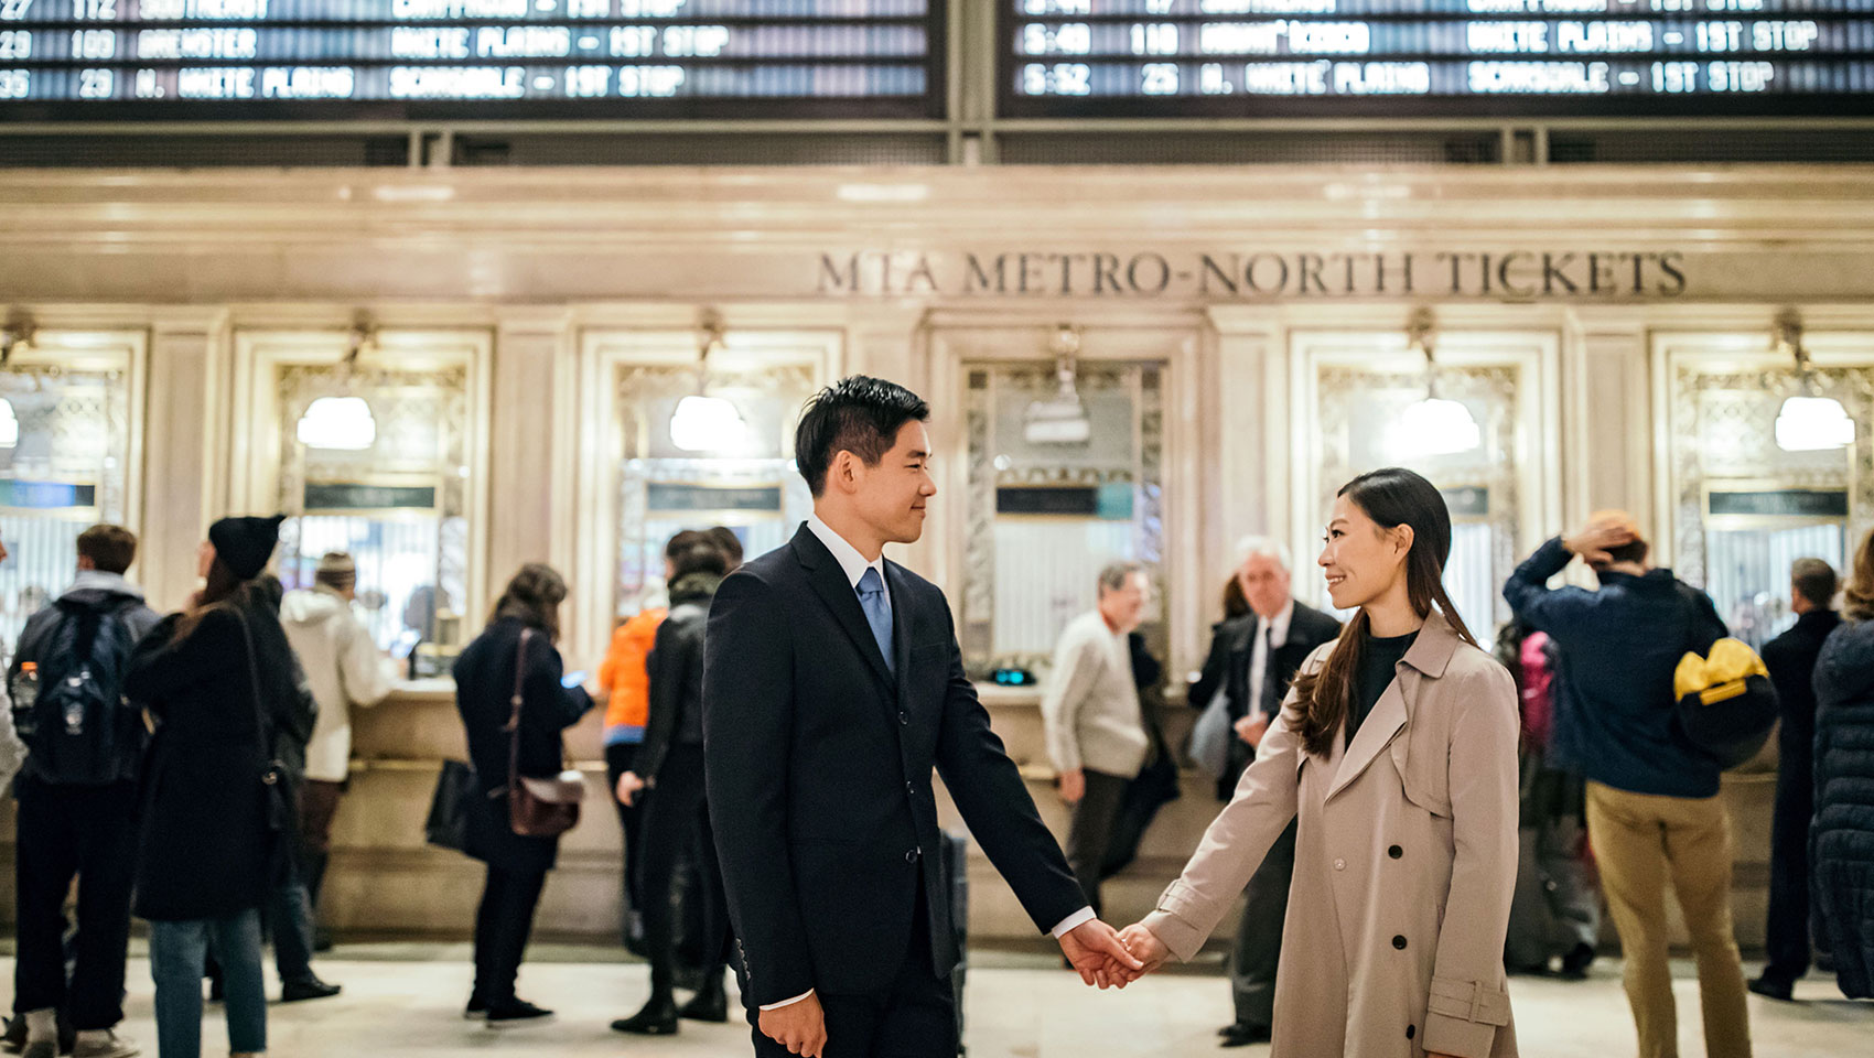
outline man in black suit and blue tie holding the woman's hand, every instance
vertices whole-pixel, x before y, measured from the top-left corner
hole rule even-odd
[[[795,434],[813,519],[710,609],[708,807],[759,1056],[956,1054],[933,768],[1087,983],[1139,966],[989,730],[943,592],[883,558],[922,536],[937,494],[928,418],[877,378],[821,391]]]

